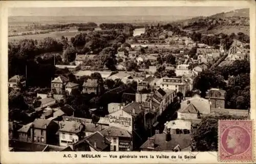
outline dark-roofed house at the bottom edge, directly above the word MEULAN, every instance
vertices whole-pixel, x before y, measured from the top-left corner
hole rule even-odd
[[[73,145],[74,151],[110,151],[111,142],[100,132],[84,137]]]

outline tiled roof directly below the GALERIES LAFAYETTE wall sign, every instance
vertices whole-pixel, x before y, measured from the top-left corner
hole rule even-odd
[[[101,130],[100,133],[104,136],[132,137],[127,130],[114,126]]]

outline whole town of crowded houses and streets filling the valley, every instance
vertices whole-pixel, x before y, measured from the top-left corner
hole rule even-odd
[[[29,86],[27,65],[25,75],[10,77],[9,104],[26,99],[30,106],[20,113],[17,104],[12,118],[9,112],[9,150],[197,151],[194,136],[204,118],[250,115],[243,103],[230,108],[236,106],[227,98],[232,93],[215,81],[202,88],[205,72],[249,62],[249,43],[230,37],[229,45],[208,45],[202,38],[223,36],[200,34],[195,39],[195,33],[182,36],[182,29],[179,34],[158,29],[147,26],[140,35],[125,37],[114,57],[102,59],[99,54],[112,53],[103,49],[75,53],[70,61],[63,48],[61,62],[56,64],[54,56],[58,73],[48,79],[50,88]],[[227,78],[223,81],[229,84]]]

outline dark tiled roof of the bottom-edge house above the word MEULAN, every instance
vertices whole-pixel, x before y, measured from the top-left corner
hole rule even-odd
[[[86,136],[85,140],[91,147],[93,147],[97,151],[103,151],[104,149],[109,147],[111,144],[109,139],[106,139],[106,138],[105,138],[106,143],[104,143],[104,136],[98,131],[96,131],[95,133],[89,136]],[[95,146],[94,143],[96,143],[96,147],[94,147]]]

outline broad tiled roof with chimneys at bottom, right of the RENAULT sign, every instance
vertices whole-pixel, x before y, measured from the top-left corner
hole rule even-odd
[[[153,138],[155,138],[154,149],[148,148],[152,147],[150,141],[147,140],[140,148],[141,149],[150,149],[157,151],[172,151],[177,145],[180,146],[181,150],[190,146],[191,136],[190,134],[171,134],[171,139],[166,142],[165,140],[166,134],[155,134]]]

